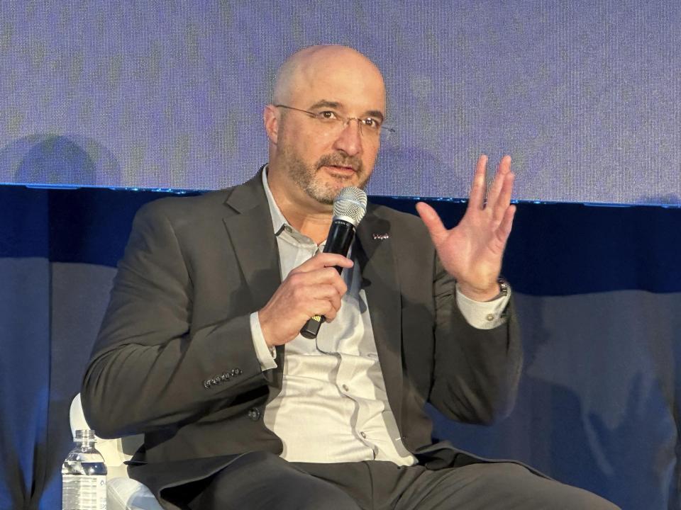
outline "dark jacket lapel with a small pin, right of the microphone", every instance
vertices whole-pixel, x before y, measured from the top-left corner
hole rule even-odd
[[[358,226],[357,255],[388,401],[402,428],[402,300],[391,225],[373,209],[370,205]]]

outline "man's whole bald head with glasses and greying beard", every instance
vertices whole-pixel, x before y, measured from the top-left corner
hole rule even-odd
[[[263,112],[267,179],[284,216],[306,211],[326,221],[341,188],[364,186],[384,118],[383,77],[360,52],[312,46],[289,57]]]

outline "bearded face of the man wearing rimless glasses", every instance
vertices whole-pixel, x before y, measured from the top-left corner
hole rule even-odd
[[[343,66],[345,64],[345,67]],[[345,186],[363,188],[371,175],[380,134],[348,118],[383,120],[384,85],[365,62],[334,62],[306,70],[287,106],[321,114],[278,108],[281,121],[277,159],[288,178],[307,196],[331,204]],[[302,74],[302,73],[301,73]],[[338,118],[341,120],[328,120]],[[326,120],[325,120],[326,119]]]

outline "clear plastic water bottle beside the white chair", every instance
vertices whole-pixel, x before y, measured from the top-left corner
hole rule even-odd
[[[95,441],[94,431],[76,431],[62,464],[62,510],[106,510],[106,465]]]

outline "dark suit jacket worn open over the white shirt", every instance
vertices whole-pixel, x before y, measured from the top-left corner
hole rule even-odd
[[[131,476],[156,494],[241,453],[282,451],[261,416],[281,388],[284,348],[263,373],[249,323],[281,283],[261,179],[145,205],[119,264],[82,402],[99,436],[145,433]],[[468,422],[509,412],[521,368],[514,315],[470,327],[413,215],[370,205],[355,253],[404,445],[431,467],[450,465],[458,450],[431,444],[423,405]]]

